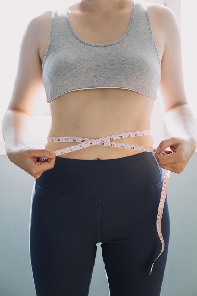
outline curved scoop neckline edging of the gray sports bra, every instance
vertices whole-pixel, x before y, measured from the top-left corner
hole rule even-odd
[[[129,21],[129,25],[128,25],[128,27],[127,27],[127,31],[125,32],[125,34],[124,34],[122,37],[120,37],[118,40],[116,40],[116,41],[113,41],[113,42],[110,42],[110,43],[103,43],[103,44],[87,42],[87,41],[83,40],[82,38],[80,38],[80,37],[77,35],[77,33],[74,31],[73,26],[72,26],[72,24],[71,24],[71,22],[70,22],[70,18],[69,18],[69,16],[68,16],[67,6],[65,6],[65,8],[64,8],[64,15],[65,15],[65,18],[66,18],[66,20],[67,20],[67,23],[68,23],[68,25],[69,25],[69,27],[70,27],[70,30],[72,31],[73,35],[74,35],[79,41],[81,41],[81,42],[83,42],[83,43],[85,43],[85,44],[87,44],[87,45],[92,45],[92,46],[108,46],[108,45],[113,45],[113,44],[116,44],[116,43],[122,41],[122,40],[127,36],[127,34],[129,33],[129,31],[130,31],[130,29],[131,29],[131,24],[132,24],[133,16],[134,16],[134,13],[135,13],[135,8],[136,8],[136,0],[133,0],[133,8],[132,8],[131,16],[130,16],[130,21]]]

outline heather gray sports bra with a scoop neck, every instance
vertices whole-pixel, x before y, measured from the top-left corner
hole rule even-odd
[[[160,78],[161,63],[145,1],[134,0],[127,31],[105,44],[82,40],[73,30],[67,8],[53,10],[42,63],[48,103],[67,92],[88,88],[124,88],[155,101]]]

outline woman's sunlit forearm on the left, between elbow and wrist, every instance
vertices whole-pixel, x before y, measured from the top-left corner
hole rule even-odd
[[[2,120],[5,150],[8,155],[14,147],[27,147],[32,118],[23,111],[8,109]]]

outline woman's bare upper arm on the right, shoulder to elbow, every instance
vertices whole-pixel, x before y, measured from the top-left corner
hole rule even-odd
[[[160,20],[164,32],[165,51],[161,60],[159,94],[163,111],[187,104],[183,81],[181,34],[174,12],[161,5]]]

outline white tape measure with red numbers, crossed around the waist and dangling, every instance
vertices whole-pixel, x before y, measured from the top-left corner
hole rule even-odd
[[[104,146],[109,146],[109,147],[117,147],[117,148],[125,148],[125,149],[134,149],[134,150],[139,150],[139,151],[147,151],[147,152],[155,152],[156,148],[153,147],[145,147],[145,146],[139,146],[139,145],[132,145],[132,144],[125,144],[125,143],[119,143],[119,142],[113,142],[112,140],[117,140],[117,139],[123,139],[127,137],[139,137],[139,136],[146,136],[150,135],[151,130],[139,130],[139,131],[132,131],[128,133],[120,133],[120,134],[114,134],[106,137],[101,137],[98,139],[90,139],[90,138],[82,138],[82,137],[46,137],[48,142],[77,142],[80,143],[78,145],[70,146],[67,148],[63,148],[60,150],[54,151],[57,155],[61,155],[64,153],[68,153],[71,151],[76,151],[80,150],[86,147],[94,146],[94,145],[104,145]],[[167,155],[166,152],[162,151],[160,154]],[[40,157],[39,161],[44,161],[48,157]],[[167,194],[167,185],[168,185],[168,180],[170,177],[170,172],[169,170],[165,171],[164,174],[164,182],[161,190],[161,198],[159,201],[159,207],[158,207],[158,213],[157,213],[157,219],[156,219],[156,227],[157,227],[157,233],[158,236],[161,240],[162,243],[162,249],[160,254],[157,256],[155,261],[158,259],[158,257],[163,253],[165,243],[164,239],[161,233],[161,219],[162,219],[162,214],[163,214],[163,208],[164,208],[164,203],[166,199],[166,194]],[[152,264],[151,270],[149,272],[149,275],[152,274],[152,269],[155,261]]]

